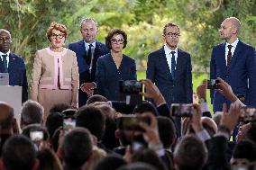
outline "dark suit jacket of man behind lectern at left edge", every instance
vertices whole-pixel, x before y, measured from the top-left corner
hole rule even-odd
[[[1,59],[1,58],[0,58]],[[0,64],[0,72],[4,71],[3,61]],[[19,85],[23,87],[23,99],[25,102],[28,100],[28,82],[26,76],[26,67],[23,58],[10,52],[9,54],[9,85]]]

